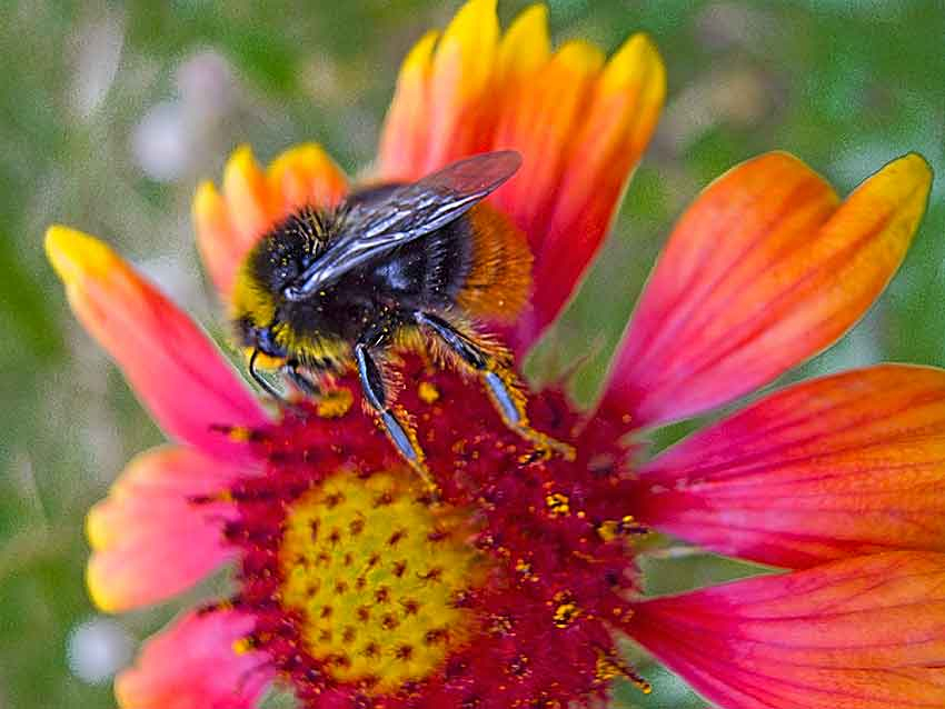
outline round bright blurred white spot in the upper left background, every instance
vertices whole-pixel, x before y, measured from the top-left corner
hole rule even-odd
[[[188,121],[178,101],[153,106],[135,128],[131,150],[152,180],[170,182],[187,172],[190,163]]]

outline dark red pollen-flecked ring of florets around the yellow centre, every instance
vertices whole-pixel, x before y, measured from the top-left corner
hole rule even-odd
[[[232,602],[257,617],[247,647],[263,650],[299,701],[319,709],[567,707],[603,699],[617,676],[639,682],[615,645],[636,585],[626,533],[639,531],[624,512],[630,481],[619,422],[579,433],[580,416],[561,392],[533,396],[531,426],[577,447],[574,461],[549,458],[505,426],[475,381],[414,356],[398,369],[398,405],[439,488],[426,503],[468,510],[469,543],[488,559],[485,580],[451,601],[471,611],[471,640],[430,676],[384,695],[339,682],[308,651],[304,619],[280,602],[287,510],[339,469],[416,473],[357,406],[326,413],[304,403],[249,433],[263,469],[230,490],[239,516],[226,535],[242,551]],[[355,378],[337,383],[358,400]],[[417,496],[428,495],[417,483]]]

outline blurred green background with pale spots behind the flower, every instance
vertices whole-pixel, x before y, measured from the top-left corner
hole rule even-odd
[[[507,23],[526,3],[499,4]],[[593,396],[674,219],[713,177],[772,148],[797,153],[844,193],[909,150],[923,152],[939,176],[893,286],[802,373],[884,359],[945,366],[945,4],[549,4],[559,41],[585,37],[613,50],[630,32],[648,31],[667,63],[669,96],[607,258],[530,362],[534,375],[548,377],[591,353],[575,387],[579,398]],[[219,334],[218,307],[192,246],[189,202],[198,179],[218,179],[240,142],[266,161],[317,140],[349,172],[362,169],[400,58],[457,7],[0,7],[0,707],[113,706],[111,672],[180,608],[107,619],[87,599],[84,511],[129,457],[161,437],[68,312],[43,260],[44,228],[64,221],[105,237]],[[669,541],[643,563],[650,592],[754,571]],[[615,703],[704,705],[628,652],[656,691],[644,698],[621,687]]]

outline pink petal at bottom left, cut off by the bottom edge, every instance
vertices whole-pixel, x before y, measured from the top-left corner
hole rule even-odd
[[[121,709],[251,709],[272,677],[259,652],[235,645],[253,629],[237,612],[189,613],[151,638],[119,675]]]

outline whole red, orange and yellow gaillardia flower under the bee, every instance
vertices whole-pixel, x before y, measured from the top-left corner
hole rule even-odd
[[[472,0],[408,56],[378,180],[513,148],[489,200],[534,256],[519,356],[597,251],[656,122],[664,69],[630,38],[609,60],[549,49],[534,7],[500,34]],[[840,200],[769,153],[679,220],[593,411],[530,395],[535,455],[485,392],[407,352],[399,401],[440,495],[352,406],[357,378],[271,416],[210,340],[101,242],[52,227],[73,310],[175,441],[131,462],[89,516],[94,601],[162,601],[226,563],[233,595],[150,640],[117,681],[128,709],[243,709],[265,688],[326,708],[581,707],[628,637],[718,707],[945,706],[945,371],[877,366],[790,386],[645,460],[634,436],[763,387],[856,322],[903,259],[931,174],[909,154]],[[267,170],[240,149],[195,202],[223,299],[251,246],[347,191],[315,146]],[[647,528],[785,571],[645,598]]]

